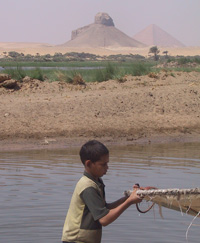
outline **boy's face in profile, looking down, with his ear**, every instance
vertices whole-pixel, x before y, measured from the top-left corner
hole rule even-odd
[[[91,174],[95,179],[102,177],[106,174],[108,170],[108,162],[109,162],[109,154],[103,155],[100,160],[92,163],[88,163],[85,169],[86,171]]]

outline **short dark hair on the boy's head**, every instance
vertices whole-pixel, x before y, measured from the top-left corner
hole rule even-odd
[[[109,150],[103,143],[100,143],[97,140],[90,140],[85,143],[79,152],[81,161],[85,164],[86,160],[90,160],[95,163],[100,160],[103,155],[109,154]]]

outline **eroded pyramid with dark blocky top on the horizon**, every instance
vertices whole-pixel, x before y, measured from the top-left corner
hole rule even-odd
[[[144,47],[115,28],[107,13],[98,13],[93,24],[72,31],[71,40],[61,46],[66,47]]]

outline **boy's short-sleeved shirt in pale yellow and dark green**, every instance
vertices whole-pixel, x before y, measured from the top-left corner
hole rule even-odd
[[[101,242],[102,225],[99,219],[109,212],[106,208],[104,187],[102,179],[96,181],[84,172],[72,195],[62,241]]]

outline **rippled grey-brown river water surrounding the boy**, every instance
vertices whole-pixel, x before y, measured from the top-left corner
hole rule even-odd
[[[199,187],[200,144],[110,147],[103,177],[107,201],[135,183],[159,188]],[[0,242],[60,242],[67,208],[83,166],[78,149],[0,153]],[[131,206],[103,228],[102,243],[187,242],[193,217],[158,207],[140,215]],[[199,242],[200,218],[188,242]]]

